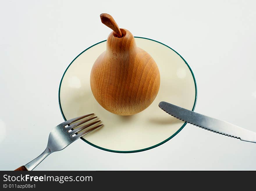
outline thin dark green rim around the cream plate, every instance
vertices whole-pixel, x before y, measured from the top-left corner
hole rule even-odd
[[[150,38],[144,38],[144,37],[134,37],[134,38],[143,38],[143,39],[147,39],[147,40],[152,40],[152,39],[150,39]],[[101,41],[101,42],[98,42],[98,43],[96,43],[96,44],[90,46],[89,48],[87,48],[87,49],[85,49],[84,51],[82,51],[77,57],[79,57],[83,52],[85,52],[86,50],[90,49],[91,47],[94,47],[95,45],[97,45],[97,44],[99,44],[99,43],[102,43],[102,42],[105,42],[105,41],[106,41],[106,40],[103,40],[103,41]],[[158,41],[156,41],[156,40],[152,40],[152,41],[158,42]],[[161,42],[158,42],[158,43],[163,44],[163,43],[161,43]],[[163,44],[163,45],[166,46],[166,47],[168,47],[166,44]],[[168,48],[169,48],[169,49],[172,49],[171,47],[168,47]],[[172,49],[172,50],[173,50],[173,49]],[[173,51],[174,51],[175,53],[177,53],[175,50],[173,50]],[[180,56],[179,53],[177,53],[177,54]],[[76,57],[74,60],[76,60],[77,57]],[[182,56],[180,56],[180,57],[182,58]],[[72,62],[70,63],[70,65],[74,62],[74,60],[72,60]],[[196,104],[196,100],[197,100],[197,85],[196,85],[196,81],[195,81],[195,76],[194,76],[193,71],[192,71],[192,69],[190,68],[189,64],[186,62],[186,60],[185,60],[184,58],[182,58],[182,60],[184,60],[184,62],[186,63],[186,65],[189,67],[189,70],[190,70],[190,72],[191,72],[191,74],[192,74],[192,76],[193,76],[193,80],[194,80],[194,83],[195,83],[195,101],[194,101],[194,105],[193,105],[193,108],[192,108],[192,111],[194,111],[194,109],[195,109],[195,104]],[[70,65],[68,65],[67,69],[70,67]],[[62,76],[62,78],[61,78],[61,82],[60,82],[60,86],[59,86],[59,91],[58,91],[59,106],[60,106],[60,110],[61,110],[62,117],[64,118],[65,121],[66,121],[67,119],[66,119],[66,117],[64,116],[63,111],[62,111],[62,108],[61,108],[60,92],[61,92],[61,83],[62,83],[63,77],[65,76],[65,73],[67,72],[67,69],[65,70],[65,72],[64,72],[64,74],[63,74],[63,76]],[[134,151],[115,151],[115,150],[105,149],[105,148],[103,148],[103,147],[99,147],[99,146],[97,146],[97,145],[95,145],[95,144],[93,144],[93,143],[91,143],[91,142],[85,140],[83,137],[81,137],[81,139],[82,139],[83,141],[87,142],[88,144],[92,145],[93,147],[96,147],[96,148],[98,148],[98,149],[102,149],[102,150],[104,150],[104,151],[110,151],[110,152],[115,152],[115,153],[135,153],[135,152],[141,152],[141,151],[146,151],[146,150],[149,150],[149,149],[153,149],[153,148],[158,147],[159,145],[161,145],[161,144],[167,142],[168,140],[170,140],[171,138],[173,138],[175,135],[177,135],[177,134],[179,133],[179,131],[181,131],[181,130],[184,128],[184,126],[185,126],[186,124],[187,124],[187,123],[185,122],[185,123],[181,126],[181,128],[179,128],[178,131],[176,131],[176,132],[175,132],[172,136],[170,136],[168,139],[166,139],[166,140],[164,140],[164,141],[162,141],[162,142],[160,142],[160,143],[158,143],[158,144],[156,144],[156,145],[153,145],[153,146],[151,146],[151,147],[147,147],[147,148],[145,148],[145,149],[134,150]]]

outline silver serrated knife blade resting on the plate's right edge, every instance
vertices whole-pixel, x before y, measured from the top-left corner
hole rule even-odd
[[[253,131],[241,128],[219,119],[214,119],[212,117],[193,112],[191,110],[187,110],[179,106],[175,106],[165,101],[161,101],[158,106],[169,115],[176,117],[177,119],[180,119],[184,122],[209,131],[213,131],[214,133],[237,138],[241,141],[256,143],[256,133]]]

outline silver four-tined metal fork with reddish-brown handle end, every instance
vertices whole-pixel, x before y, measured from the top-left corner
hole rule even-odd
[[[87,133],[90,133],[91,131],[101,127],[103,124],[92,127],[86,131],[80,132],[83,129],[90,127],[96,123],[99,123],[99,121],[95,121],[92,122],[90,124],[86,124],[83,126],[80,126],[78,128],[75,128],[81,124],[84,124],[92,119],[95,119],[97,117],[92,117],[90,119],[84,119],[88,116],[94,115],[94,113],[88,114],[88,115],[83,115],[80,117],[76,117],[73,119],[69,119],[59,125],[57,125],[56,127],[54,127],[50,134],[49,134],[49,138],[48,138],[48,144],[47,147],[45,149],[44,152],[42,152],[42,154],[40,154],[37,158],[35,158],[34,160],[31,160],[29,163],[27,163],[26,165],[23,165],[17,169],[15,169],[15,171],[24,171],[24,170],[33,170],[37,165],[39,165],[49,154],[56,152],[56,151],[61,151],[62,149],[66,148],[69,144],[71,144],[72,142],[74,142],[75,140],[79,139],[80,137],[82,137],[83,135],[86,135]],[[83,119],[79,122],[77,122],[78,120]],[[74,123],[76,122],[76,123]],[[72,124],[73,123],[73,124]],[[73,129],[75,128],[75,129]]]

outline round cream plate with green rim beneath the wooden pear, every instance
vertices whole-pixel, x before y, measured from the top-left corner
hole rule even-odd
[[[138,152],[170,140],[186,124],[158,107],[166,101],[194,110],[197,90],[193,72],[186,61],[170,47],[136,37],[138,47],[156,61],[161,84],[154,102],[141,113],[119,116],[102,108],[90,89],[90,71],[96,58],[106,50],[106,41],[83,51],[67,67],[59,88],[59,104],[64,119],[95,113],[103,127],[83,136],[87,143],[107,151]],[[99,120],[98,119],[98,120]],[[95,119],[96,120],[96,119]]]

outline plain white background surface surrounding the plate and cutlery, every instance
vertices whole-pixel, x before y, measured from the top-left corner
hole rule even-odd
[[[1,1],[0,170],[38,156],[63,122],[58,87],[69,63],[111,32],[111,14],[134,36],[175,49],[198,85],[195,111],[256,131],[255,1]],[[153,115],[153,114],[152,114]],[[186,125],[139,153],[77,140],[36,170],[256,170],[256,144]]]

